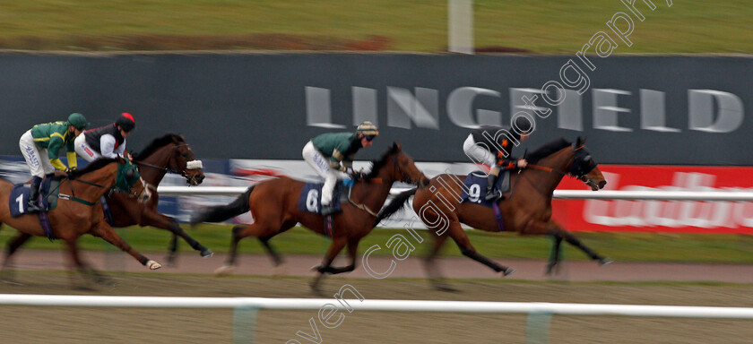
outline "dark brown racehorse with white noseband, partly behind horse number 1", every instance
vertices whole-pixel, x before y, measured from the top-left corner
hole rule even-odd
[[[111,226],[124,228],[139,225],[169,230],[172,232],[167,258],[169,263],[175,262],[177,236],[183,237],[186,243],[199,251],[203,257],[212,256],[212,251],[188,236],[183,228],[180,228],[176,219],[157,211],[160,195],[157,193],[156,186],[160,185],[162,178],[168,172],[184,176],[188,185],[202,184],[204,178],[202,163],[196,160],[194,151],[188,143],[180,135],[167,133],[154,139],[141,152],[133,152],[132,158],[134,164],[140,167],[141,176],[151,189],[151,199],[149,202],[138,202],[125,193],[108,193],[105,200],[112,218]],[[97,207],[100,208],[100,204]],[[20,233],[14,237],[8,242],[7,253],[13,254],[30,237],[26,233]]]

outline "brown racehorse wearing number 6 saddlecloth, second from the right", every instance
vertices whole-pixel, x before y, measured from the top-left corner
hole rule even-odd
[[[392,185],[396,181],[428,185],[428,177],[416,168],[411,157],[406,155],[399,144],[393,145],[380,158],[372,163],[368,176],[359,179],[349,193],[350,202],[342,203],[342,213],[334,216],[332,244],[327,249],[325,260],[316,267],[319,275],[312,283],[318,283],[325,273],[353,271],[356,267],[356,254],[361,238],[367,236],[376,218],[376,211],[384,205]],[[233,228],[230,254],[227,265],[221,271],[229,271],[236,263],[238,241],[247,236],[255,236],[264,245],[275,265],[281,263],[269,244],[269,239],[300,223],[319,234],[325,234],[324,218],[317,213],[300,211],[299,195],[304,183],[289,177],[280,177],[252,185],[247,192],[229,205],[212,207],[191,219],[191,223],[219,222],[247,211],[254,215],[255,223]],[[343,193],[348,193],[343,191]],[[351,264],[345,267],[331,266],[342,248],[348,245]]]

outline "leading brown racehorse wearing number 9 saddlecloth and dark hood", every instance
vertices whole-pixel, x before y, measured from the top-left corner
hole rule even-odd
[[[519,174],[512,174],[511,190],[505,194],[506,197],[498,201],[505,231],[518,232],[522,235],[554,236],[555,242],[547,273],[550,273],[559,261],[559,245],[563,239],[583,250],[593,260],[598,260],[602,264],[610,263],[608,258],[594,253],[567,229],[562,228],[557,221],[551,219],[552,194],[563,176],[575,176],[591,186],[593,191],[600,190],[607,184],[602,172],[596,167],[596,163],[585,149],[584,142],[578,138],[576,144],[571,144],[564,139],[559,139],[532,152],[526,159],[530,163],[529,168]],[[439,288],[444,288],[444,286],[440,283],[440,275],[434,266],[434,258],[445,243],[447,236],[460,247],[463,255],[505,275],[514,271],[478,254],[461,228],[460,224],[464,223],[472,228],[489,232],[499,231],[494,211],[489,207],[460,202],[464,177],[435,176],[427,189],[411,189],[397,195],[393,202],[379,213],[375,222],[378,224],[382,219],[402,209],[411,195],[415,194],[413,210],[419,214],[434,237],[434,246],[428,254],[426,263],[429,277],[437,283]],[[446,235],[443,235],[445,232]]]

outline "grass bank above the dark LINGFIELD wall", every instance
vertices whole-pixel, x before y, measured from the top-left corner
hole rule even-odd
[[[620,45],[617,54],[753,52],[749,1],[672,3],[668,7],[665,0],[653,0],[656,9],[651,11],[636,2],[645,15],[639,22],[619,1],[474,0],[475,45],[572,55],[594,33],[611,34],[606,22],[624,12],[635,22],[634,45],[613,37]],[[226,41],[218,46],[218,39]],[[2,48],[160,50],[186,44],[221,49],[360,45],[443,52],[447,1],[0,0]]]

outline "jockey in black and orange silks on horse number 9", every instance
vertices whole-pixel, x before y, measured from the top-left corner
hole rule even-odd
[[[528,161],[513,158],[510,153],[515,145],[524,142],[528,134],[532,132],[532,124],[524,116],[515,117],[515,129],[509,126],[482,126],[472,131],[463,142],[465,155],[473,161],[481,162],[489,167],[488,183],[484,200],[492,201],[501,195],[494,193],[494,184],[497,182],[499,171],[525,168]],[[518,143],[515,143],[518,142]]]

